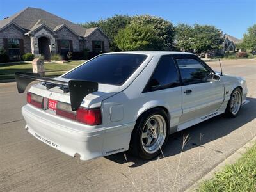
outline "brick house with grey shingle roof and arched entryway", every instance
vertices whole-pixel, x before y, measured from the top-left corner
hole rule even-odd
[[[83,28],[39,8],[26,8],[0,20],[0,49],[11,59],[26,52],[67,56],[67,52],[108,52],[109,38],[99,28]]]

